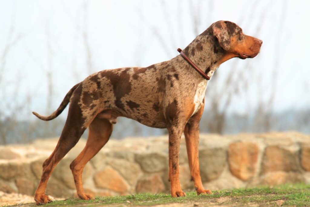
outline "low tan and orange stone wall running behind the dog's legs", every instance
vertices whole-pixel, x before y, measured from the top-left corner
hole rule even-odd
[[[33,195],[43,161],[58,139],[38,140],[30,145],[0,146],[0,191]],[[69,169],[82,151],[80,140],[56,166],[47,194],[72,197],[75,185]],[[201,178],[206,189],[230,189],[286,182],[310,183],[310,136],[295,132],[201,134]],[[194,190],[184,137],[180,146],[180,182],[184,191]],[[131,193],[169,192],[168,137],[111,139],[86,165],[86,193],[114,196]]]

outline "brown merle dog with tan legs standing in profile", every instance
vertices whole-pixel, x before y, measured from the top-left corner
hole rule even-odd
[[[217,21],[198,35],[183,53],[203,72],[212,77],[223,62],[239,57],[253,58],[262,41],[243,34],[230,21]],[[118,116],[134,119],[169,133],[169,181],[172,197],[186,196],[179,182],[179,146],[185,135],[188,162],[197,194],[212,194],[202,186],[199,173],[199,121],[204,110],[208,80],[178,55],[148,67],[103,70],[76,84],[64,97],[59,108],[49,116],[33,112],[39,119],[56,118],[69,104],[69,112],[55,150],[43,163],[43,171],[34,200],[46,204],[47,181],[56,164],[75,146],[89,128],[85,148],[70,164],[80,199],[92,199],[82,187],[85,164],[108,142]]]

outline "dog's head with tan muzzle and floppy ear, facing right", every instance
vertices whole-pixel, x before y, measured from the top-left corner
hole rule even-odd
[[[211,25],[213,35],[225,53],[241,59],[253,58],[259,53],[263,41],[243,34],[242,29],[230,21],[217,21]]]

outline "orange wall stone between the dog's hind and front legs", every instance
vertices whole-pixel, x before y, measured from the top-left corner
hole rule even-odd
[[[123,193],[128,190],[126,181],[122,176],[113,168],[106,167],[94,176],[96,187],[112,190],[115,192]]]

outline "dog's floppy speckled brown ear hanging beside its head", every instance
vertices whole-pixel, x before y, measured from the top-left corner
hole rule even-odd
[[[224,50],[229,50],[230,32],[227,24],[224,21],[218,21],[213,25],[212,30],[213,35],[219,40],[219,45],[223,47]]]

